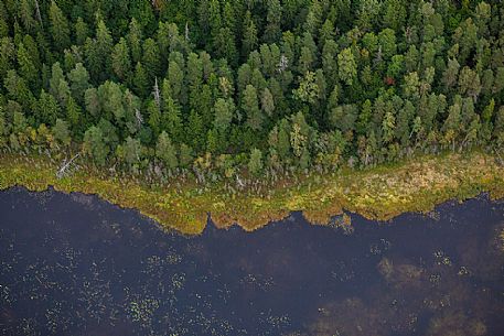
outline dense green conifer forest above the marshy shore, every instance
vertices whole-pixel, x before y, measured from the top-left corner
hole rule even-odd
[[[0,148],[167,176],[504,145],[504,4],[3,0]]]

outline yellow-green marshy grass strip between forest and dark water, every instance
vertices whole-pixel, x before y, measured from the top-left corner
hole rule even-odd
[[[367,171],[343,170],[334,175],[303,176],[278,182],[261,196],[244,191],[232,196],[217,183],[199,187],[149,186],[138,178],[114,177],[84,167],[63,178],[46,158],[0,156],[0,188],[22,185],[43,191],[50,185],[65,193],[82,192],[136,208],[161,225],[184,234],[200,234],[207,213],[219,227],[238,223],[254,230],[292,210],[312,223],[325,224],[343,209],[371,219],[389,219],[405,212],[428,212],[450,198],[465,199],[481,192],[504,197],[504,167],[481,152],[417,156]]]

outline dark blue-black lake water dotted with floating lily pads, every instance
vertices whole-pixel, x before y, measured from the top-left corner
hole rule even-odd
[[[0,334],[504,335],[504,203],[337,223],[185,238],[93,196],[1,192]]]

